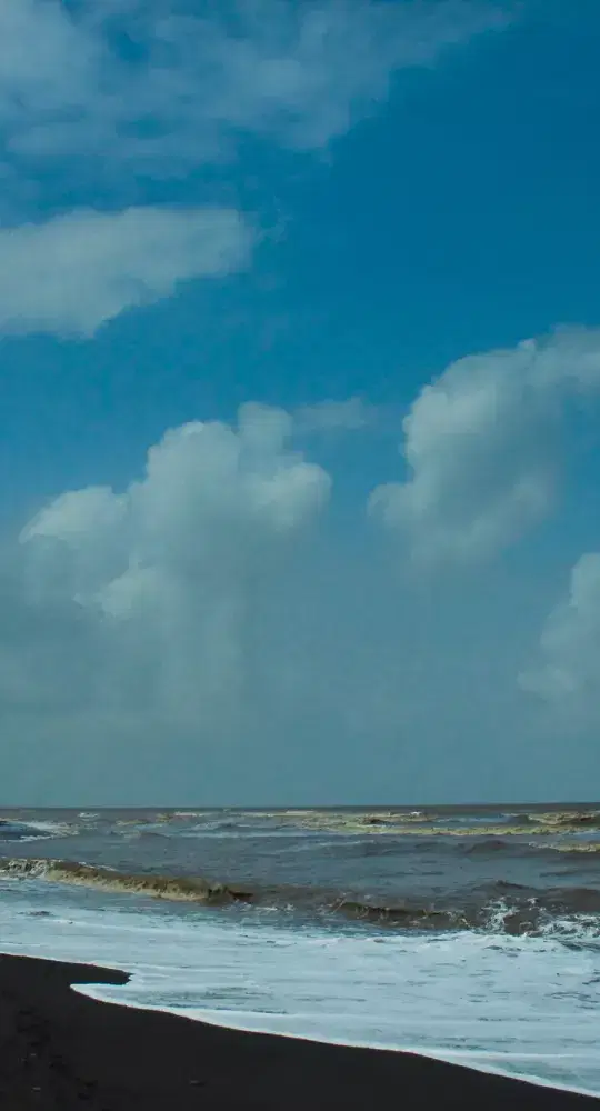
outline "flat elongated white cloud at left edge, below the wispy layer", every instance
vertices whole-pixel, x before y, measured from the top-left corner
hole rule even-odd
[[[0,330],[92,336],[191,278],[243,267],[252,231],[231,209],[79,210],[0,230]]]

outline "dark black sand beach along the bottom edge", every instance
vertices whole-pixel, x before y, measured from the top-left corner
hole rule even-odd
[[[413,1054],[240,1033],[69,990],[126,980],[80,964],[0,957],[2,1111],[598,1108],[597,1100]]]

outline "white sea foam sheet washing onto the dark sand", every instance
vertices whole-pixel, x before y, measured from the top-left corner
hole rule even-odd
[[[333,935],[210,912],[79,905],[3,881],[4,952],[131,974],[94,999],[243,1030],[414,1050],[600,1095],[600,949],[582,920],[549,934]],[[40,908],[52,917],[37,917]]]

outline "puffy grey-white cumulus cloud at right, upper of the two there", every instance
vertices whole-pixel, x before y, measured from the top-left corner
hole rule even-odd
[[[407,534],[419,560],[494,552],[549,511],[566,401],[599,387],[597,330],[452,363],[404,418],[408,478],[377,488],[371,511]]]

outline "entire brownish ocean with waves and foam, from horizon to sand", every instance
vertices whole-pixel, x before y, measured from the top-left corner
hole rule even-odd
[[[0,950],[98,1000],[600,1095],[600,803],[4,810]]]

